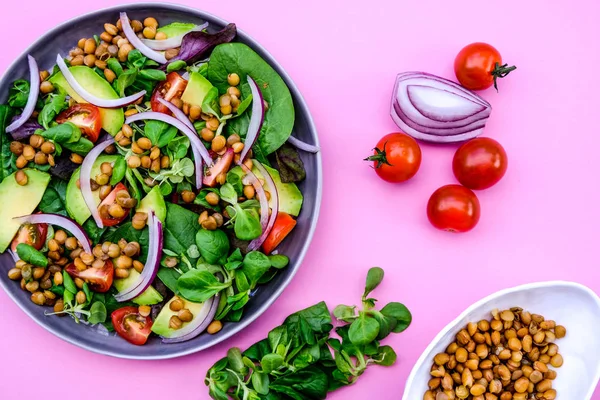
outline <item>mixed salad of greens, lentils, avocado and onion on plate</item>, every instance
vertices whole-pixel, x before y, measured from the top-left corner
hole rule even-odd
[[[135,345],[215,334],[288,265],[298,149],[318,149],[291,136],[289,89],[234,24],[103,28],[47,70],[27,56],[0,105],[7,278]]]

